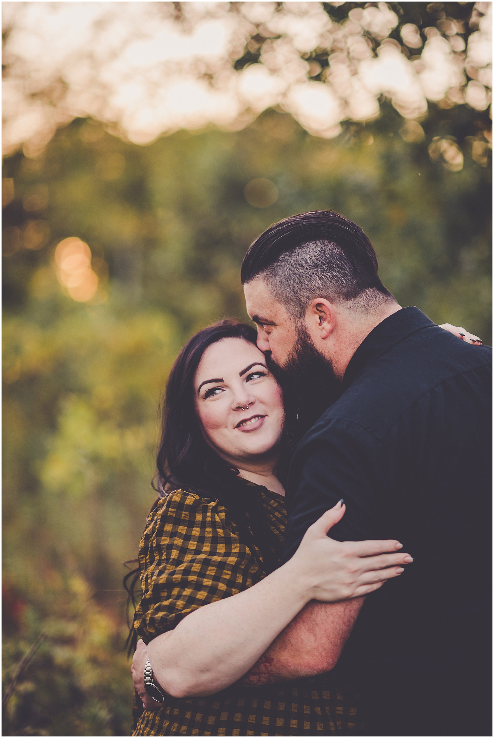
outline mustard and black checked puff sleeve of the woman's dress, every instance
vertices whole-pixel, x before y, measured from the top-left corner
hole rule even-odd
[[[145,644],[197,607],[246,590],[263,576],[224,507],[187,492],[168,494],[151,511],[139,566],[143,597],[134,627]]]

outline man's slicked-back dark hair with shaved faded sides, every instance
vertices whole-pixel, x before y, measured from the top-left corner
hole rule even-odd
[[[371,241],[360,226],[332,210],[292,215],[261,233],[241,268],[242,284],[256,277],[295,320],[303,319],[315,297],[360,314],[394,302],[377,276]]]

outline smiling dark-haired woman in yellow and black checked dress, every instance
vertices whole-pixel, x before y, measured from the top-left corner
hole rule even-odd
[[[272,683],[263,655],[310,600],[364,596],[411,557],[397,553],[397,541],[329,538],[345,512],[340,500],[279,566],[284,408],[255,339],[254,328],[222,321],[193,336],[171,370],[159,497],[139,551],[134,627],[142,640],[132,672],[144,711],[134,735],[360,730],[354,701],[331,674],[318,674],[317,646],[306,678],[288,683]],[[287,659],[292,647],[287,638]]]

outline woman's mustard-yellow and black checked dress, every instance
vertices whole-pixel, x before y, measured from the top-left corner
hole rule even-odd
[[[281,556],[284,498],[264,487],[268,520]],[[149,643],[203,604],[229,597],[266,576],[261,552],[241,542],[227,510],[213,499],[176,491],[159,500],[140,542],[143,599],[134,627]],[[157,711],[134,711],[134,736],[325,736],[360,734],[355,700],[343,699],[332,673],[261,687],[231,686],[210,697],[167,696]],[[141,708],[142,709],[142,708]],[[137,724],[136,724],[137,723]]]

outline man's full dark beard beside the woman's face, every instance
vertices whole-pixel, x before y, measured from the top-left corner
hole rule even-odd
[[[315,348],[305,325],[297,328],[297,342],[284,368],[275,364],[270,354],[267,354],[267,366],[283,391],[282,456],[283,466],[286,466],[302,436],[340,397],[342,387],[332,363]]]

